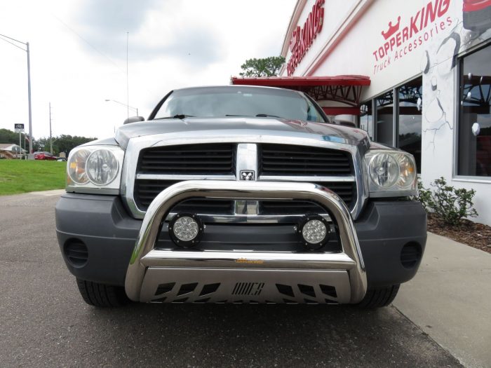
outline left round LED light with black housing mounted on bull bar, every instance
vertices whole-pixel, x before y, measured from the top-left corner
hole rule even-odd
[[[169,235],[180,247],[194,247],[201,240],[203,224],[196,214],[178,213],[170,221]]]

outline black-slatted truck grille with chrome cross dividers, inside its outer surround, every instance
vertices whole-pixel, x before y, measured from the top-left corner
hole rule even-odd
[[[196,142],[196,140],[194,141]],[[255,172],[255,180],[311,182],[334,191],[351,211],[356,210],[357,181],[351,151],[320,146],[276,143],[193,143],[141,148],[135,155],[133,203],[144,214],[152,200],[168,186],[184,180],[238,180],[242,170]],[[315,203],[305,201],[264,200],[248,202],[243,212],[234,200],[189,199],[172,212],[234,216],[302,215],[325,213]],[[131,208],[131,206],[130,206]],[[254,209],[250,212],[251,209]],[[210,219],[211,217],[209,217]],[[218,217],[216,217],[218,221]],[[226,218],[220,221],[229,222]]]

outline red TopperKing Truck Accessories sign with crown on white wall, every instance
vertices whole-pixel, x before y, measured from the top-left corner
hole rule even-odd
[[[450,0],[432,0],[411,16],[391,20],[382,30],[382,42],[373,51],[373,74],[390,67],[405,55],[412,53],[432,39],[438,32],[452,26],[451,17],[443,18],[450,8]]]

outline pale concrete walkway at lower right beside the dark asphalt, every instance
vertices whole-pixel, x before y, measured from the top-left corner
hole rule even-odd
[[[491,367],[491,254],[428,233],[394,306],[466,367]]]

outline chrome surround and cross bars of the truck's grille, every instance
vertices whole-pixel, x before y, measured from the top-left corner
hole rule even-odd
[[[192,172],[193,175],[190,175],[189,172],[169,174],[165,172],[140,172],[138,168],[138,161],[140,157],[140,153],[149,147],[152,148],[165,148],[171,146],[185,146],[185,145],[194,145],[199,146],[203,144],[215,144],[215,146],[220,146],[220,144],[232,144],[236,146],[236,151],[234,151],[235,158],[235,166],[234,172],[231,172],[232,175],[220,175],[219,172],[211,173],[207,172],[206,175],[201,173],[198,175],[196,172]],[[346,155],[350,158],[351,161],[351,173],[345,173],[344,175],[332,175],[332,176],[321,176],[321,175],[300,175],[296,177],[295,175],[260,175],[259,168],[259,150],[260,146],[263,144],[283,144],[283,145],[292,145],[295,147],[303,148],[306,152],[310,149],[326,149],[329,151],[339,151],[342,154]],[[213,132],[199,132],[199,135],[191,134],[185,138],[179,135],[152,135],[135,137],[130,139],[128,143],[128,148],[126,149],[125,154],[125,162],[123,164],[123,172],[121,179],[121,195],[123,196],[123,200],[125,201],[128,210],[133,214],[133,217],[137,219],[143,219],[145,211],[147,210],[146,206],[142,206],[141,203],[138,203],[137,198],[137,188],[136,184],[140,179],[151,179],[156,182],[159,181],[168,181],[168,182],[177,182],[182,180],[201,180],[201,179],[215,179],[215,180],[238,180],[239,177],[236,177],[236,166],[239,161],[241,161],[241,157],[237,154],[238,146],[257,146],[257,171],[255,172],[255,180],[258,181],[285,181],[285,182],[314,182],[314,183],[323,183],[325,182],[325,186],[329,186],[327,183],[335,184],[336,182],[339,184],[352,182],[353,183],[353,197],[351,198],[351,205],[349,206],[351,216],[356,219],[358,214],[361,213],[363,206],[365,205],[365,201],[368,198],[368,187],[364,181],[364,171],[363,171],[363,152],[365,150],[364,146],[356,146],[354,143],[345,142],[328,142],[322,137],[316,135],[302,134],[295,137],[292,137],[288,134],[283,134],[283,132],[264,132],[262,135],[256,134],[248,134],[248,132],[242,132],[240,135],[240,141],[238,141],[237,132],[234,130],[214,130]],[[245,170],[250,170],[250,168],[246,168]],[[212,175],[213,174],[213,175]],[[280,173],[284,174],[284,173]],[[299,173],[300,174],[300,173]],[[234,177],[232,179],[231,177]],[[346,200],[346,198],[344,198]],[[222,213],[210,213],[208,214],[216,214],[220,216]],[[261,214],[261,213],[259,213]],[[281,214],[278,214],[281,216]]]

